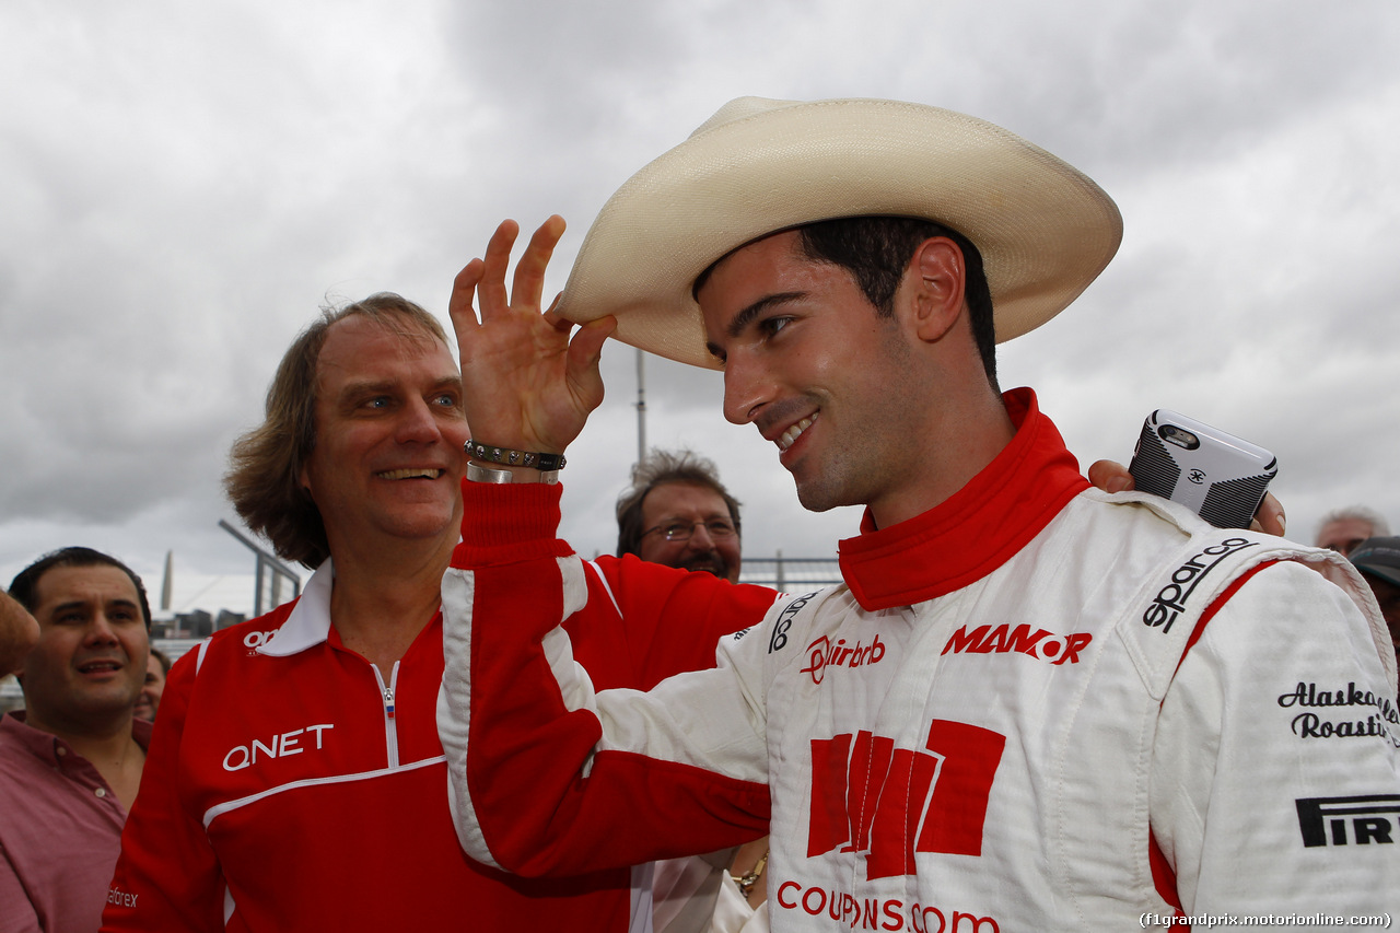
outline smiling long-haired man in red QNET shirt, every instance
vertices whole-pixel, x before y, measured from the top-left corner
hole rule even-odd
[[[171,670],[104,929],[630,929],[650,912],[647,869],[521,881],[452,832],[438,586],[468,426],[441,325],[392,294],[326,312],[287,350],[266,412],[234,445],[227,490],[315,573],[297,602]],[[594,677],[648,686],[713,664],[707,618],[757,619],[773,601],[756,587],[689,601],[692,574],[672,573],[619,594],[652,619],[626,630],[594,584],[575,629]],[[704,615],[715,598],[727,612]]]

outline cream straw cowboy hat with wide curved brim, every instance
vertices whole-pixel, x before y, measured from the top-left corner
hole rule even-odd
[[[770,233],[862,214],[937,220],[972,240],[998,342],[1064,310],[1123,238],[1098,185],[1000,126],[900,101],[742,97],[603,205],[559,311],[612,314],[617,339],[714,367],[696,277]]]

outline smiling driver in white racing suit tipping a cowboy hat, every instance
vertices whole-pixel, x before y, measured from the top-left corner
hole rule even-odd
[[[997,388],[995,340],[1070,304],[1120,231],[1091,179],[981,120],[756,98],[612,198],[545,315],[563,223],[510,297],[503,224],[452,298],[483,441],[442,586],[468,852],[571,873],[771,820],[785,930],[1393,908],[1400,717],[1375,698],[1394,656],[1355,572],[1091,489],[1035,394]],[[774,443],[808,509],[865,506],[841,586],[648,693],[573,663],[584,572],[554,538],[557,474],[521,465],[581,430],[613,331],[722,367],[725,416]],[[648,573],[603,572],[622,591]]]

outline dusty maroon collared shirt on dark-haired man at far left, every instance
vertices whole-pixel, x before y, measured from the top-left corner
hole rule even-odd
[[[151,724],[132,735],[146,748]],[[0,933],[98,929],[125,824],[87,758],[24,712],[0,719]]]

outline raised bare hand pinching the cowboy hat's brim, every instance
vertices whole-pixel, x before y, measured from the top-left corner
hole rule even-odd
[[[545,269],[564,234],[557,214],[531,237],[507,294],[505,270],[518,233],[514,220],[503,221],[486,259],[472,259],[452,283],[448,312],[462,354],[466,423],[483,444],[560,454],[603,401],[598,361],[616,322],[592,321],[570,340],[573,325],[553,308],[542,312]]]

